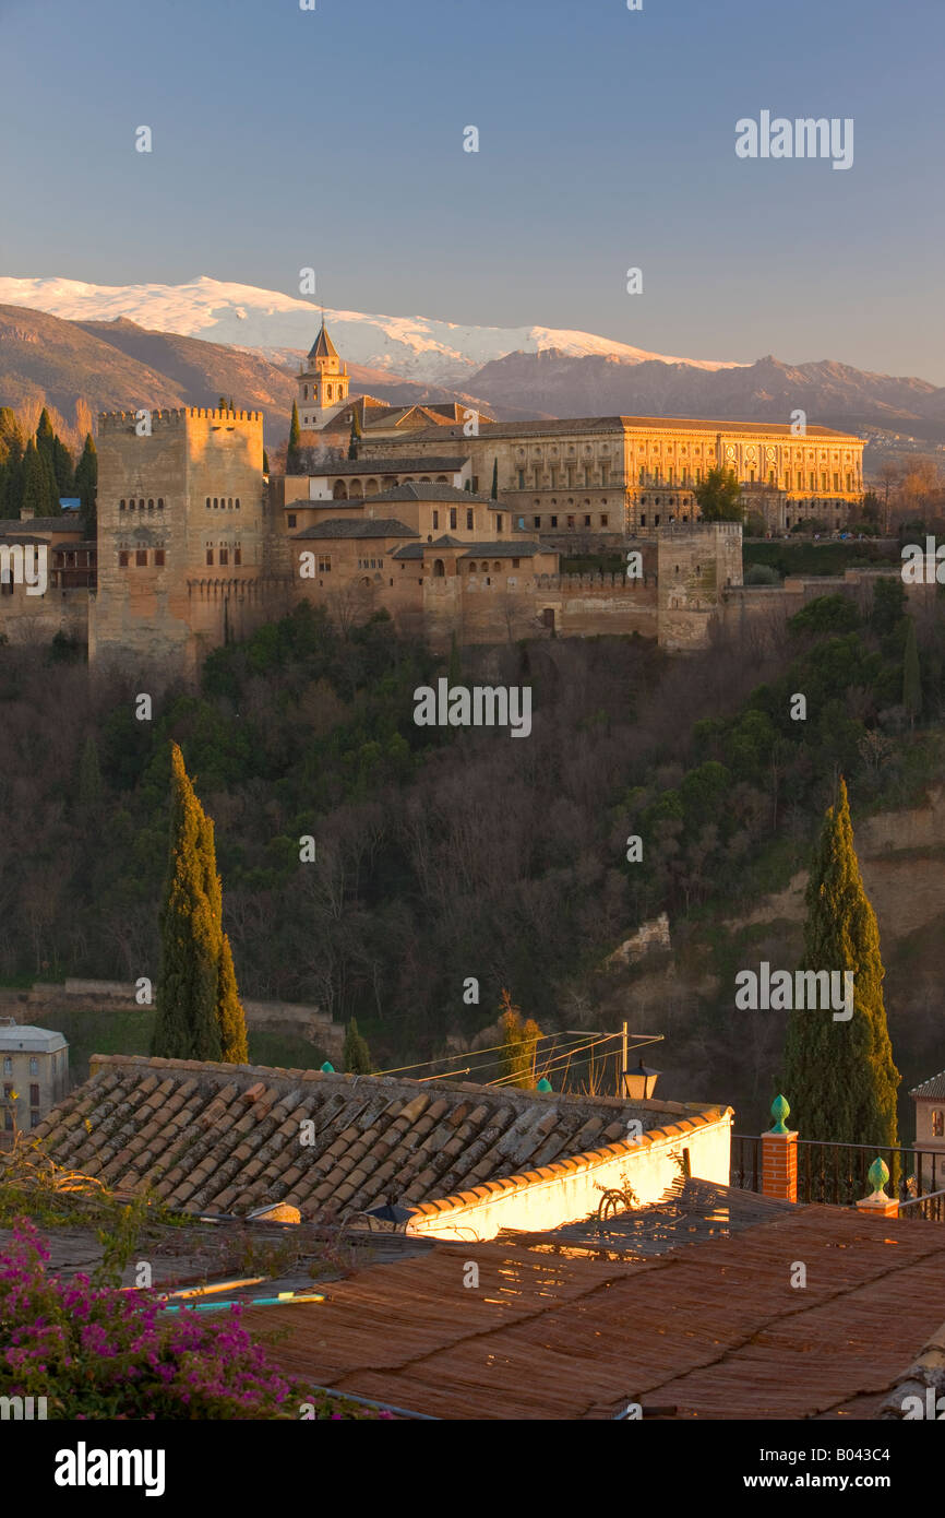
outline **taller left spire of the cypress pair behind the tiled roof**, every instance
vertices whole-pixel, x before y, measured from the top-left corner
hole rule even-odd
[[[177,744],[171,747],[170,858],[161,908],[161,981],[152,1055],[220,1060],[220,929],[206,896],[208,827]],[[212,833],[209,833],[212,847]]]

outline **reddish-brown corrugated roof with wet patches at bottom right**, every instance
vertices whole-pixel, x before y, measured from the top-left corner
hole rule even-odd
[[[945,1249],[939,1224],[804,1207],[645,1261],[558,1234],[440,1243],[328,1296],[243,1324],[285,1330],[285,1371],[437,1418],[869,1418],[942,1321]]]

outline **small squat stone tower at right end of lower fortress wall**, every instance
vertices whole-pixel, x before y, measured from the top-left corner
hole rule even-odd
[[[663,527],[657,543],[657,616],[661,648],[704,648],[730,586],[742,584],[742,524]]]

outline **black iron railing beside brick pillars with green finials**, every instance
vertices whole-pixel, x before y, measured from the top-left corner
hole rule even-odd
[[[889,1196],[899,1202],[919,1202],[942,1195],[945,1154],[912,1149],[906,1145],[825,1143],[798,1138],[798,1201],[852,1207],[869,1196],[868,1172],[874,1160],[889,1169]],[[731,1135],[730,1186],[746,1192],[761,1190],[761,1135]],[[939,1207],[939,1214],[942,1208]],[[913,1216],[925,1216],[913,1208]],[[934,1216],[930,1208],[928,1216]],[[936,1220],[945,1220],[937,1216]]]

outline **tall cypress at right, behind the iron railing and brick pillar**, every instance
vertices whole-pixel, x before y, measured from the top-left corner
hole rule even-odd
[[[883,1005],[877,918],[860,877],[846,785],[828,808],[807,885],[804,970],[852,970],[854,1011],[793,1009],[784,1043],[783,1091],[805,1138],[896,1143],[899,1072]]]

